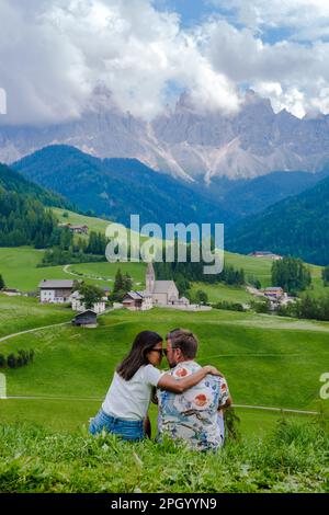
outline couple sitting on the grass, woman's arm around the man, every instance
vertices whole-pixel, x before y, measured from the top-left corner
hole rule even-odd
[[[181,438],[198,450],[217,450],[224,443],[224,412],[231,403],[226,380],[213,366],[195,360],[197,339],[175,329],[162,337],[152,331],[137,334],[118,365],[102,409],[90,421],[90,433],[103,430],[125,440],[150,436],[148,409],[158,403],[158,439]],[[162,355],[170,370],[161,371]],[[156,394],[155,394],[155,388]]]

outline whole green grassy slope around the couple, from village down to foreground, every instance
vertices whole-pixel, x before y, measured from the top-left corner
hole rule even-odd
[[[0,337],[67,321],[65,307],[0,295]],[[88,435],[115,365],[144,329],[188,327],[200,337],[198,363],[226,376],[234,402],[302,410],[280,414],[237,408],[241,440],[218,455],[171,442],[127,445]],[[329,323],[228,311],[113,311],[95,330],[70,324],[0,342],[0,353],[34,348],[29,366],[4,369],[0,400],[1,492],[325,492],[328,401],[319,399],[329,363]],[[166,367],[166,363],[163,363]],[[150,411],[155,426],[157,410]],[[280,421],[280,422],[279,422]]]

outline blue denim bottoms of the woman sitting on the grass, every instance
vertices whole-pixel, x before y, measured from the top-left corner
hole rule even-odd
[[[137,442],[145,437],[144,425],[141,421],[127,421],[123,419],[115,419],[107,415],[103,410],[100,410],[94,419],[91,419],[89,432],[92,435],[102,433],[102,431],[118,435],[128,442]]]

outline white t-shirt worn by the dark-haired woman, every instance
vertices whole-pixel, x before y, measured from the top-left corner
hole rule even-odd
[[[152,365],[140,367],[128,381],[115,373],[102,405],[103,411],[116,419],[143,420],[147,414],[152,387],[158,386],[162,374]]]

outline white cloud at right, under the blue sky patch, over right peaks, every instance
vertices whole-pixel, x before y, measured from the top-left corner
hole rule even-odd
[[[215,69],[270,98],[275,111],[285,107],[299,117],[318,110],[329,113],[328,43],[270,45],[250,28],[238,30],[223,20],[204,24],[198,41]]]

